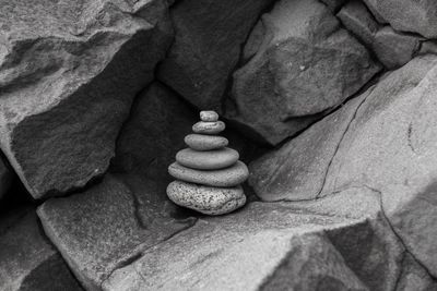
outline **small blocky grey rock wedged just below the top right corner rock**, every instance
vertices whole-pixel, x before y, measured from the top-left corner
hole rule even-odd
[[[385,26],[375,35],[373,50],[379,61],[389,70],[408,63],[421,47],[423,38],[397,33]]]

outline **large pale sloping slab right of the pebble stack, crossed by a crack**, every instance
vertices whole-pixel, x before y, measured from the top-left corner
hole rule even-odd
[[[359,97],[358,107],[350,104],[329,117],[342,122],[322,120],[277,153],[253,162],[256,192],[269,201],[315,198],[350,187],[380,193],[397,235],[437,277],[436,78],[435,56],[416,58],[386,75]],[[329,131],[338,133],[326,135]],[[326,142],[305,151],[303,147],[317,142],[311,132],[326,135]],[[309,140],[304,143],[304,138]],[[286,159],[274,165],[281,156]],[[311,160],[296,163],[296,159]],[[267,172],[272,173],[271,181],[265,180]],[[311,173],[312,180],[299,179],[302,172]],[[286,194],[280,191],[286,189]]]

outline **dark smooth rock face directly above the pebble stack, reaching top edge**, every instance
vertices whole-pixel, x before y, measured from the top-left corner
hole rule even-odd
[[[272,0],[187,0],[172,9],[176,38],[158,77],[203,110],[222,111],[240,47]]]

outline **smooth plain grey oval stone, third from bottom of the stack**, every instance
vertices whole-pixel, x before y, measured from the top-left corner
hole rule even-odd
[[[176,161],[180,165],[198,170],[218,170],[227,168],[237,162],[238,151],[228,147],[197,151],[191,148],[185,148],[176,154]]]

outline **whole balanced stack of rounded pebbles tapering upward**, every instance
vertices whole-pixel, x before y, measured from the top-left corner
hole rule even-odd
[[[249,171],[238,160],[228,141],[216,134],[225,129],[214,111],[201,111],[201,121],[192,126],[194,134],[185,137],[189,148],[176,154],[176,162],[168,167],[177,180],[167,186],[168,197],[177,205],[206,215],[231,213],[246,203],[241,183]]]

